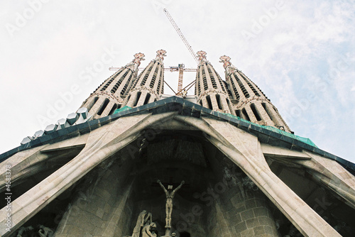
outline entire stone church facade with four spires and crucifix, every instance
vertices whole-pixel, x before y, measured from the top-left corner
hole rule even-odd
[[[1,236],[354,236],[355,165],[296,136],[228,56],[164,94],[143,53],[0,155]]]

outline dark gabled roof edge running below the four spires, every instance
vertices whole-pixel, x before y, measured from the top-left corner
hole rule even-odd
[[[302,140],[293,138],[293,136],[285,136],[283,133],[278,133],[268,128],[264,128],[263,126],[259,126],[258,124],[243,121],[241,119],[236,118],[235,116],[229,116],[224,113],[212,111],[211,109],[207,109],[203,106],[200,106],[199,104],[194,104],[180,97],[169,97],[167,99],[155,101],[151,104],[146,104],[126,111],[119,111],[119,113],[117,114],[112,114],[104,118],[98,118],[85,123],[77,124],[75,126],[70,126],[68,128],[62,128],[45,136],[40,136],[39,138],[32,140],[29,143],[20,145],[17,148],[13,148],[12,150],[1,154],[0,162],[3,162],[7,158],[11,157],[11,155],[18,153],[22,150],[35,148],[39,145],[55,143],[60,140],[66,140],[68,138],[89,133],[90,131],[93,131],[96,128],[99,128],[107,123],[110,123],[111,121],[116,120],[117,118],[121,118],[124,116],[133,116],[136,114],[162,114],[169,111],[178,111],[178,113],[183,116],[192,116],[195,118],[201,118],[202,116],[204,116],[214,118],[220,121],[226,121],[238,128],[243,129],[244,131],[253,133],[253,135],[258,136],[258,139],[262,143],[278,145],[292,150],[305,149],[311,151],[312,153],[322,155],[325,158],[336,160],[343,167],[345,167],[346,170],[351,172],[352,175],[355,175],[355,164],[349,162],[348,160],[339,158],[337,155],[327,153],[326,151],[321,150],[320,148],[317,148],[314,145],[310,145],[309,143],[305,143]]]

